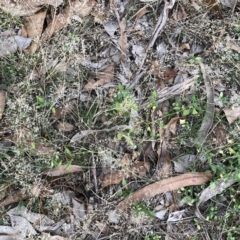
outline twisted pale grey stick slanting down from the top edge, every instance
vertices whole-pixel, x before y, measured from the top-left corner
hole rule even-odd
[[[157,25],[153,31],[153,34],[152,34],[152,38],[147,46],[147,49],[146,49],[146,52],[145,52],[145,56],[139,66],[139,69],[136,73],[136,77],[134,78],[134,80],[128,85],[127,89],[129,88],[133,88],[137,83],[138,81],[141,79],[141,77],[144,75],[145,71],[142,71],[142,67],[143,67],[143,64],[147,58],[147,54],[149,52],[149,50],[153,47],[154,43],[156,42],[157,40],[157,37],[158,37],[158,34],[160,33],[160,31],[164,28],[166,22],[167,22],[167,18],[168,18],[168,11],[169,9],[172,9],[174,4],[175,4],[175,1],[176,0],[170,0],[170,2],[167,2],[165,0],[165,5],[164,5],[164,9],[158,19],[158,22],[157,22]]]

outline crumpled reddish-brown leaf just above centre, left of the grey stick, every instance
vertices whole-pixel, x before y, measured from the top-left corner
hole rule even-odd
[[[92,78],[90,78],[89,82],[84,86],[83,90],[90,91],[92,89],[95,89],[106,83],[111,82],[114,77],[114,70],[115,70],[114,65],[108,66],[103,72],[100,72],[98,74],[97,78],[99,80],[95,82]]]

